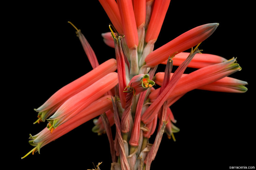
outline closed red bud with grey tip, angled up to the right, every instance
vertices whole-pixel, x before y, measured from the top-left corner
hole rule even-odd
[[[212,35],[218,25],[218,23],[204,24],[183,33],[169,43],[148,54],[145,58],[146,65],[149,67],[156,66],[166,61],[169,56],[176,55],[198,45]]]

